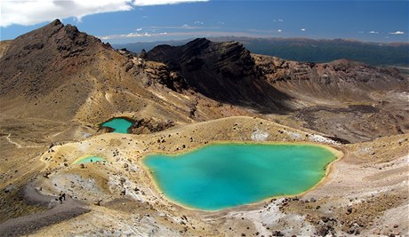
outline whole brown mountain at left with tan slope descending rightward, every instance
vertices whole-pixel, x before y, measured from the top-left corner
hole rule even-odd
[[[0,119],[81,122],[97,129],[114,116],[185,123],[246,115],[188,91],[184,77],[166,65],[115,51],[60,20],[2,42],[0,50]]]

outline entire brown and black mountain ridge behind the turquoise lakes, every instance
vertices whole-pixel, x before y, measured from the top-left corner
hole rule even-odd
[[[153,122],[164,124],[204,121],[229,113],[295,113],[293,119],[301,119],[304,126],[333,137],[330,123],[312,125],[311,117],[329,111],[319,107],[390,101],[385,91],[401,93],[408,81],[396,69],[349,60],[302,63],[253,54],[242,43],[214,43],[205,38],[182,46],[157,46],[148,53],[115,51],[58,20],[8,45],[0,58],[0,97],[11,105],[22,103],[14,100],[24,101],[24,115],[85,123],[118,114],[132,115],[135,121],[150,121],[153,116]],[[378,107],[390,107],[385,105]],[[303,108],[316,106],[302,115]],[[42,107],[47,109],[38,113]],[[345,110],[348,116],[361,113],[362,107],[352,108]],[[22,113],[14,106],[7,111]],[[378,113],[377,121],[391,123],[392,130],[373,124],[364,135],[349,128],[351,132],[344,130],[339,137],[353,142],[405,130],[406,115],[401,109],[380,111],[370,115]]]

